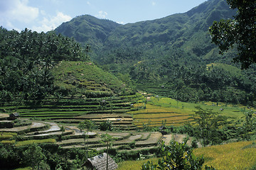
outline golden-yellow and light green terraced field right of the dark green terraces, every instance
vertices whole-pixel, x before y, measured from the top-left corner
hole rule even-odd
[[[146,94],[145,94],[146,95]],[[231,106],[225,103],[185,103],[176,101],[172,98],[161,98],[159,96],[146,96],[144,103],[137,103],[134,107],[145,108],[138,111],[130,111],[128,113],[133,115],[134,125],[138,128],[142,128],[143,125],[149,125],[151,127],[159,127],[162,122],[166,121],[165,125],[180,126],[185,123],[193,123],[191,115],[196,111],[196,106],[213,112],[218,112],[221,115],[226,116],[230,120],[239,120],[243,118],[243,112],[249,111],[246,106]],[[250,110],[256,111],[255,108]]]

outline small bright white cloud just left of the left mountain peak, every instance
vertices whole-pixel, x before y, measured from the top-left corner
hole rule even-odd
[[[41,26],[33,26],[32,30],[36,30],[38,33],[47,32],[53,30],[60,26],[61,23],[70,21],[72,18],[65,15],[64,13],[58,12],[56,16],[53,17],[43,17],[43,21],[40,22]]]

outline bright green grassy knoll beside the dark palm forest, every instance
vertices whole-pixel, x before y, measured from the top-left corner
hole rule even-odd
[[[97,91],[106,96],[121,94],[125,85],[91,62],[59,62],[53,69],[55,84],[80,94]]]

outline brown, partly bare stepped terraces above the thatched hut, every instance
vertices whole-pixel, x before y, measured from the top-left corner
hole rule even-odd
[[[2,122],[8,118],[8,115],[2,114],[0,117],[0,122]],[[63,129],[58,123],[35,120],[26,121],[30,121],[31,125],[21,125],[16,128],[0,128],[0,143],[19,147],[34,142],[38,144],[43,143],[44,145],[57,145],[63,149],[84,148],[85,145],[88,145],[90,149],[98,151],[106,148],[106,145],[100,138],[100,135],[106,132],[97,130],[89,132],[87,142],[87,140],[84,140],[83,133],[76,126],[67,125]],[[162,139],[160,132],[108,132],[108,134],[114,139],[112,146],[119,149],[119,152],[122,152],[123,148],[129,148],[131,145],[133,149],[137,150],[156,147],[159,140]]]

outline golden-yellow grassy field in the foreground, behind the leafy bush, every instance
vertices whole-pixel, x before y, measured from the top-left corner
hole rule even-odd
[[[215,169],[251,169],[256,166],[256,146],[249,142],[233,142],[227,145],[215,145],[212,147],[202,147],[194,149],[196,156],[202,155],[205,158],[205,164],[214,166]],[[145,159],[139,161],[122,162],[118,170],[122,169],[142,169],[142,164],[147,161],[157,163],[157,158]]]

